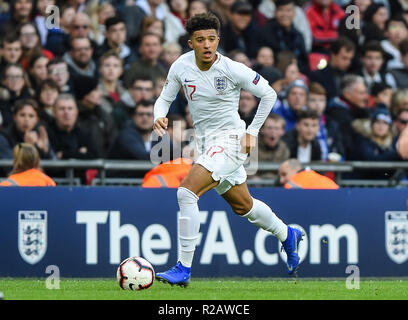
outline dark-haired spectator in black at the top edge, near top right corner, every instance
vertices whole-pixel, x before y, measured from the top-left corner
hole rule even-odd
[[[385,23],[388,20],[388,10],[383,3],[373,2],[364,13],[362,32],[365,41],[385,40]]]

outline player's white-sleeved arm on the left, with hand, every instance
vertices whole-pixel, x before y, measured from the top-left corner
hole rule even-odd
[[[170,67],[163,90],[154,104],[153,130],[159,137],[162,137],[166,133],[168,125],[167,113],[169,112],[171,103],[176,98],[177,93],[181,88],[180,82],[175,75],[175,68],[175,64]]]

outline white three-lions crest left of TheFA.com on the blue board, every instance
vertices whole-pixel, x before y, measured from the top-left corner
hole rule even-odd
[[[47,251],[47,211],[18,212],[18,251],[29,264],[44,257]]]

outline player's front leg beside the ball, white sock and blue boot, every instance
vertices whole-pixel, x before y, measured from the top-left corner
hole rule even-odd
[[[191,265],[200,231],[198,199],[218,184],[211,172],[199,164],[193,165],[177,190],[180,208],[178,218],[178,238],[180,256],[175,267],[156,275],[159,281],[186,286],[191,275]]]

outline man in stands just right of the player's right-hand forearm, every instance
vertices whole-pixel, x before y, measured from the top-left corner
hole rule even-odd
[[[290,151],[282,137],[285,134],[285,119],[280,115],[271,113],[265,120],[258,140],[258,161],[281,162],[290,157]],[[276,178],[276,173],[260,172],[257,177]]]

